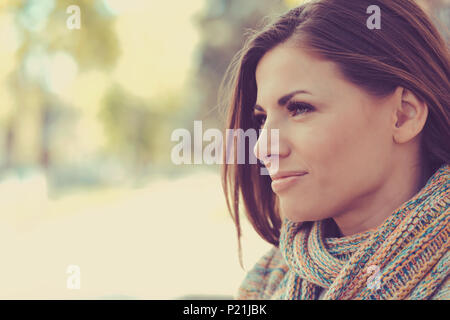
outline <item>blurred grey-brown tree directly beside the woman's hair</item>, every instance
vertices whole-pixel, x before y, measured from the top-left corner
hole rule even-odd
[[[232,57],[244,44],[245,32],[255,29],[264,18],[287,9],[282,0],[209,0],[203,16],[196,23],[202,43],[198,48],[198,68],[194,86],[202,99],[193,116],[204,121],[204,127],[223,126],[218,118],[218,88]],[[193,119],[189,119],[192,124]]]

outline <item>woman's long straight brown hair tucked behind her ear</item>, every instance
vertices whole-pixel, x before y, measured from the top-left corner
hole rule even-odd
[[[370,5],[381,9],[381,29],[366,25]],[[416,94],[429,110],[421,145],[424,175],[449,163],[449,49],[414,1],[317,0],[288,11],[260,31],[251,30],[220,86],[219,103],[228,109],[226,129],[258,129],[252,116],[256,66],[266,52],[287,40],[335,62],[348,81],[369,94],[382,97],[398,86]],[[242,266],[239,198],[257,233],[275,246],[281,219],[270,177],[259,174],[261,164],[224,163],[222,186]]]

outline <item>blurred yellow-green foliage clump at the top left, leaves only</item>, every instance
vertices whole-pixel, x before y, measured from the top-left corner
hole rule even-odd
[[[38,23],[33,20],[37,6],[48,2],[52,11],[46,17],[46,24],[42,30],[36,30]],[[99,1],[92,0],[32,0],[22,1],[18,8],[18,20],[24,32],[25,41],[18,52],[19,59],[39,44],[45,46],[47,52],[65,51],[77,61],[81,71],[89,68],[111,69],[119,56],[119,43],[113,29],[114,19],[111,15],[103,14]],[[82,8],[82,28],[70,30],[66,20],[70,14],[66,9],[76,4]],[[36,18],[34,18],[36,19]],[[28,21],[28,22],[24,22]]]

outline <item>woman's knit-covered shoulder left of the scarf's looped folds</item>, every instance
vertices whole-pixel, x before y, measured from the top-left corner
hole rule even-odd
[[[289,267],[280,252],[272,246],[247,272],[236,296],[237,300],[271,299],[279,294]]]

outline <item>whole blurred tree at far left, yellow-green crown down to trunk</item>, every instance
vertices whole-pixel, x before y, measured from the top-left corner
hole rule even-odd
[[[17,50],[19,63],[10,75],[16,105],[5,125],[6,166],[35,162],[44,168],[51,166],[55,150],[50,146],[52,139],[57,138],[50,134],[51,126],[57,125],[52,119],[73,120],[73,113],[65,110],[71,106],[64,105],[57,97],[62,84],[79,72],[91,69],[108,72],[117,59],[114,18],[102,11],[102,1],[76,1],[81,8],[79,30],[70,30],[66,25],[70,16],[66,9],[73,4],[70,0],[27,0],[8,4],[8,10],[16,17],[22,45]],[[34,123],[24,126],[25,118],[34,119]],[[29,139],[30,135],[36,139]],[[25,138],[18,138],[21,136]],[[36,152],[23,154],[23,150],[30,149]]]

